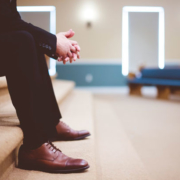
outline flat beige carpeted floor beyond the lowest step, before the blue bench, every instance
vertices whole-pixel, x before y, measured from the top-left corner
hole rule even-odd
[[[113,108],[151,179],[180,180],[180,101],[128,95],[96,95],[95,99]],[[104,119],[105,124],[109,121],[117,125],[111,118]]]

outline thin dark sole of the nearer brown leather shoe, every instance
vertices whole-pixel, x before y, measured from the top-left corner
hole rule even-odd
[[[47,170],[47,169],[38,169],[38,168],[18,166],[18,168],[23,169],[23,170],[42,171],[42,172],[56,173],[56,174],[57,174],[57,173],[78,173],[78,172],[85,171],[85,170],[88,169],[89,167],[90,167],[90,166],[87,165],[87,166],[85,166],[85,167],[78,168],[78,169]]]

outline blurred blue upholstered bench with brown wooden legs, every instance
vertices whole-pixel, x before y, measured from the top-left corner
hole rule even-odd
[[[142,86],[156,86],[158,98],[167,99],[170,93],[180,90],[180,68],[144,68],[138,77],[128,78],[130,94],[141,95]]]

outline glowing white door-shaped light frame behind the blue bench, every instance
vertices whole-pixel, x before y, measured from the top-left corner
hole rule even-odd
[[[129,12],[158,12],[159,37],[158,37],[158,66],[165,66],[165,13],[163,7],[153,6],[124,6],[122,14],[122,74],[129,73]]]

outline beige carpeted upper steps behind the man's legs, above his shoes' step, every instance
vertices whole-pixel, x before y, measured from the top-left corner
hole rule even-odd
[[[72,81],[53,80],[53,87],[58,103],[73,90]],[[11,103],[8,89],[0,89],[0,178],[4,179],[14,167],[16,150],[20,145],[23,134],[18,127],[15,109]]]

